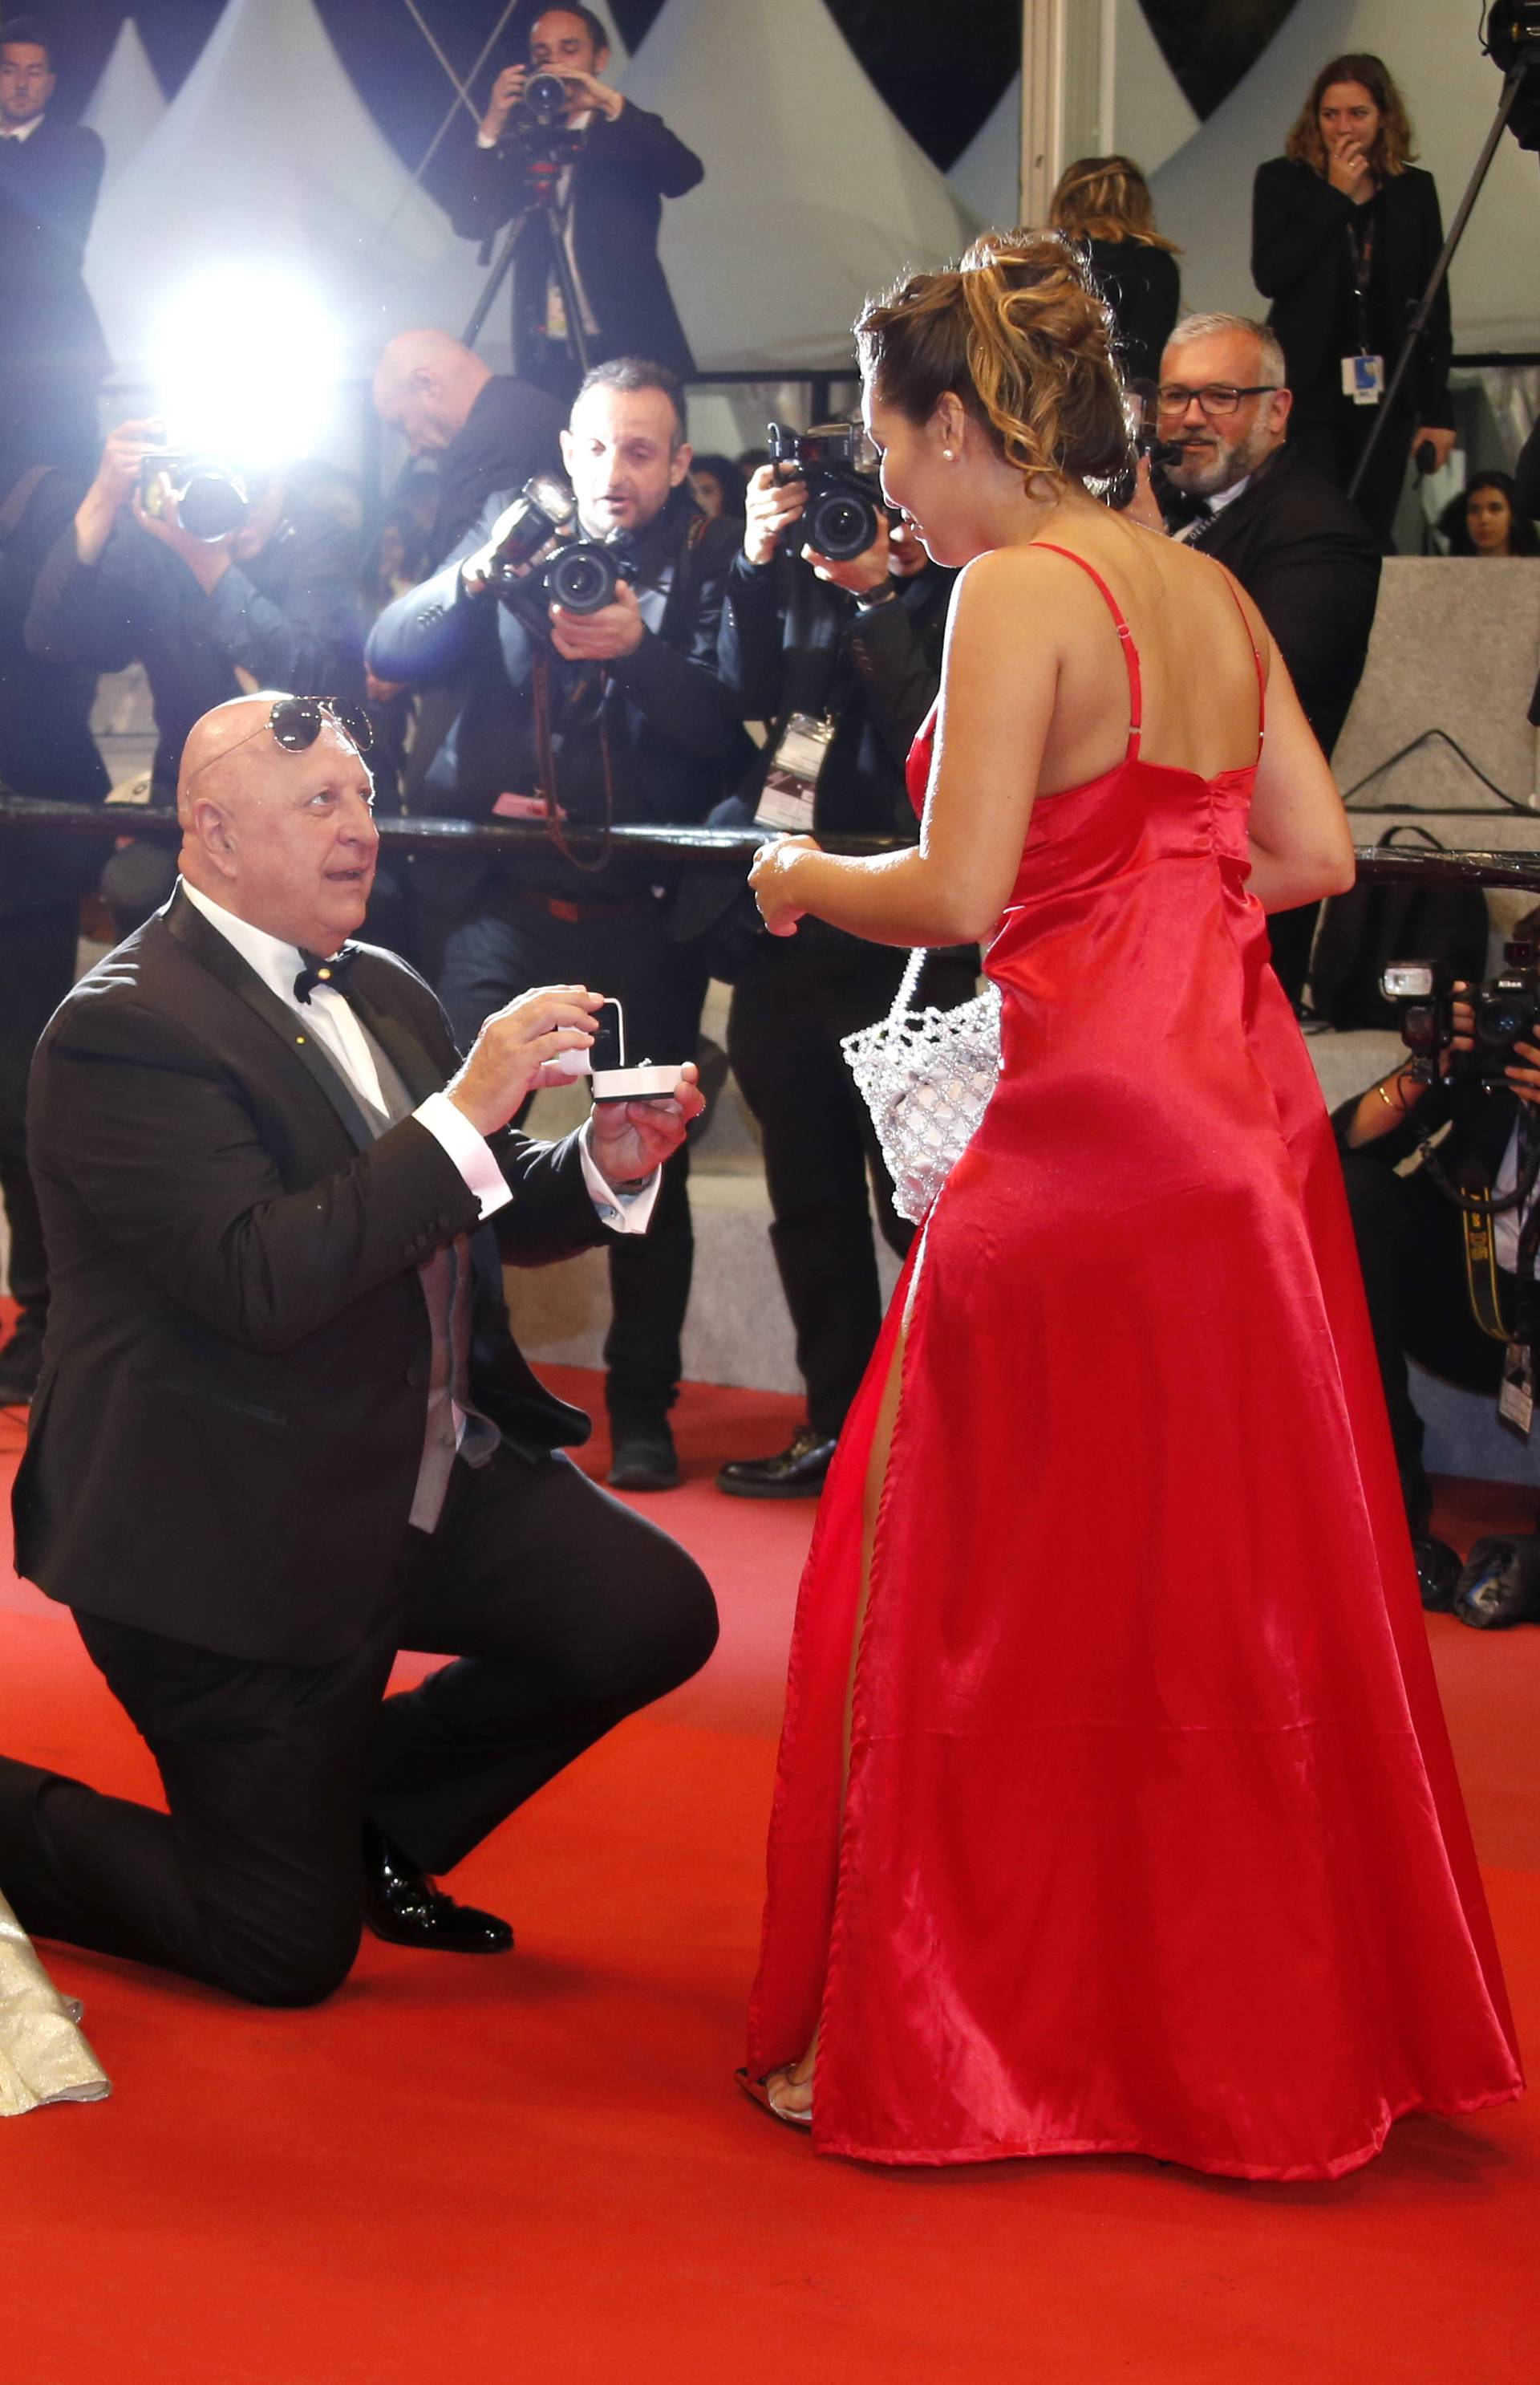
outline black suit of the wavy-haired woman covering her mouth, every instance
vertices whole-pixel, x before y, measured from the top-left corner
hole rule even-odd
[[[1364,305],[1354,296],[1354,236],[1371,250]],[[1340,487],[1347,487],[1378,417],[1378,408],[1342,396],[1342,358],[1364,346],[1385,358],[1390,379],[1411,308],[1442,246],[1437,188],[1421,167],[1390,174],[1364,207],[1297,157],[1268,157],[1256,169],[1252,279],[1273,301],[1268,322],[1283,341],[1294,391],[1292,436]],[[1452,353],[1445,281],[1356,498],[1383,546],[1390,546],[1411,432],[1454,422]]]

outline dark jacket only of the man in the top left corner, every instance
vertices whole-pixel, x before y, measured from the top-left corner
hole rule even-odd
[[[107,370],[81,279],[103,165],[98,136],[55,114],[26,141],[0,141],[0,286],[12,365],[26,358],[95,379]]]

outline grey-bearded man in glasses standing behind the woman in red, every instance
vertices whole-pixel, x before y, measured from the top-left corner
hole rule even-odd
[[[1287,446],[1278,339],[1244,315],[1187,315],[1166,343],[1156,405],[1166,527],[1216,556],[1256,601],[1330,754],[1364,677],[1380,549],[1340,489]],[[1268,921],[1273,968],[1294,1004],[1316,913],[1309,904]]]

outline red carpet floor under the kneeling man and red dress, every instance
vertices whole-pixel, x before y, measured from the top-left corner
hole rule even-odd
[[[646,1512],[706,1562],[722,1650],[462,1867],[517,1920],[508,1963],[367,1941],[331,2006],[253,2013],[50,1953],[117,2092],[0,2127],[5,2385],[1535,2375],[1540,2101],[1404,2120],[1328,2187],[1140,2161],[882,2175],[741,2101],[811,1507],[722,1500],[710,1474],[791,1417],[687,1395],[689,1483]],[[1530,1512],[1461,1483],[1445,1529]],[[1433,1641],[1535,2058],[1540,1629],[1435,1619]],[[153,1794],[69,1622],[5,1574],[0,1646],[0,1746]]]

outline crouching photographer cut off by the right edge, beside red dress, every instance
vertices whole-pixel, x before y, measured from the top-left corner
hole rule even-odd
[[[1530,911],[1514,933],[1540,935],[1540,911]],[[1466,1221],[1426,1159],[1409,1173],[1399,1171],[1416,1159],[1421,1142],[1442,1133],[1437,1166],[1447,1178],[1468,1192],[1511,1192],[1521,1104],[1540,1104],[1538,1042],[1514,1045],[1504,1071],[1511,1092],[1488,1092],[1459,1064],[1452,1066],[1454,1054],[1473,1049],[1471,1026],[1471,1004],[1457,1002],[1454,1040],[1437,1059],[1437,1080],[1428,1083],[1404,1064],[1333,1111],[1423,1605],[1440,1612],[1454,1596],[1459,1557],[1428,1534],[1433,1488],[1407,1362],[1416,1359],[1461,1390],[1497,1395],[1507,1328],[1516,1314],[1519,1238],[1533,1202],[1495,1216],[1492,1262],[1468,1266]],[[1476,1314],[1476,1300],[1488,1309],[1490,1331]]]

